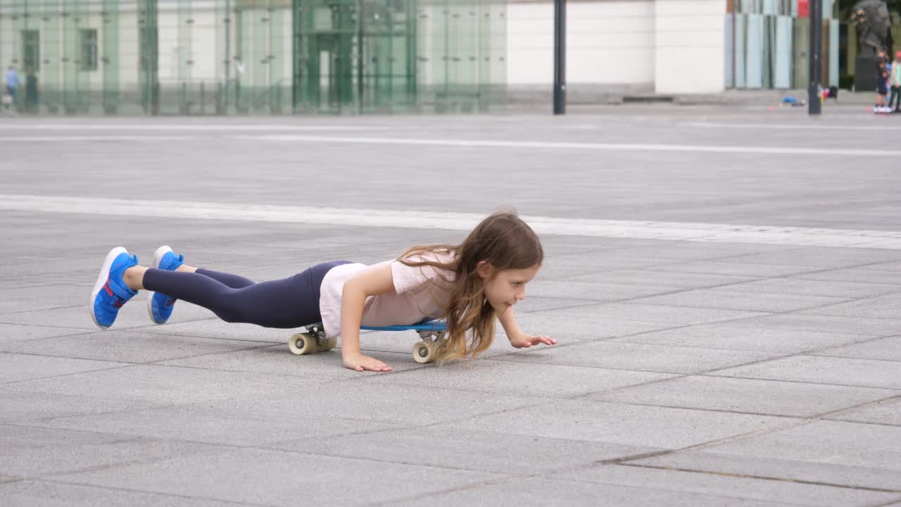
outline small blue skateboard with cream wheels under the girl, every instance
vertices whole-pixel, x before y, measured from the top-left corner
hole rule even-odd
[[[412,326],[360,326],[360,329],[368,331],[407,331],[412,330],[419,334],[421,341],[413,346],[413,358],[417,363],[432,363],[438,354],[438,347],[447,339],[448,327],[441,320],[423,320]],[[324,350],[332,350],[338,345],[338,338],[326,337],[325,329],[321,322],[305,326],[303,333],[291,335],[287,346],[295,355],[313,354]]]

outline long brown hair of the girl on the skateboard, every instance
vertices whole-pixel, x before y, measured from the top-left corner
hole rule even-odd
[[[451,260],[411,260],[424,253],[450,253]],[[522,218],[514,211],[500,211],[482,220],[461,244],[420,244],[397,260],[407,266],[433,266],[453,272],[452,279],[439,275],[450,286],[450,297],[440,301],[449,335],[438,349],[438,362],[443,364],[468,355],[475,359],[494,341],[496,311],[485,297],[487,280],[478,275],[480,263],[492,266],[491,276],[496,276],[504,270],[540,266],[544,250],[538,235]]]

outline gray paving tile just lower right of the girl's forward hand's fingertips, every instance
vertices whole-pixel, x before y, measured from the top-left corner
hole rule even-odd
[[[778,354],[743,350],[688,346],[650,346],[607,341],[535,350],[529,355],[503,355],[496,357],[496,360],[643,370],[660,373],[698,373],[776,356]]]

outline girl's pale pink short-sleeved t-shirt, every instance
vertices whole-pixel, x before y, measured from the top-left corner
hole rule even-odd
[[[411,261],[422,259],[450,262],[450,253],[425,253],[411,257]],[[441,305],[446,304],[450,286],[443,279],[453,281],[454,273],[433,266],[407,266],[400,261],[366,264],[352,263],[335,266],[325,273],[320,287],[319,311],[323,316],[326,336],[341,336],[341,291],[344,283],[361,272],[391,265],[395,292],[369,296],[363,303],[361,326],[408,326],[422,322],[425,318],[441,317]],[[443,277],[443,278],[442,278]]]

